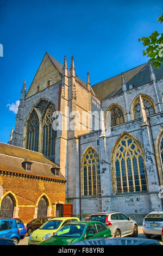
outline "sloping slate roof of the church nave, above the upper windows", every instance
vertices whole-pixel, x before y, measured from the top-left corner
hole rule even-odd
[[[129,90],[129,86],[131,84],[133,85],[133,88],[135,88],[141,86],[142,84],[151,82],[148,62],[123,72],[123,75],[127,84],[127,90]],[[163,77],[163,63],[160,69],[155,69],[155,76],[156,79]],[[100,100],[105,100],[108,99],[108,97],[120,94],[122,93],[122,74],[99,82],[93,85],[92,89]]]

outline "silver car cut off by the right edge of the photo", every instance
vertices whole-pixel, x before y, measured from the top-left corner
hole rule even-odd
[[[152,211],[144,219],[143,233],[149,239],[152,235],[161,235],[163,227],[163,211]]]

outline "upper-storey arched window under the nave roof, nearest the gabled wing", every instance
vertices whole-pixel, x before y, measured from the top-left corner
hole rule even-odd
[[[110,109],[110,112],[111,112],[111,126],[124,123],[124,115],[120,108],[112,107]]]

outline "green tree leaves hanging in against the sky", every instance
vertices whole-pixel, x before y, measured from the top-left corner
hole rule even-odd
[[[158,18],[158,21],[163,23],[163,13]],[[143,36],[139,38],[140,41],[143,42],[143,46],[147,47],[146,50],[143,50],[143,56],[148,56],[154,68],[159,69],[163,61],[163,33],[160,34],[158,31],[155,31],[148,37]]]

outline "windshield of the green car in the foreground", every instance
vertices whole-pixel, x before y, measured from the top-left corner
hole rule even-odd
[[[84,227],[83,224],[66,224],[58,230],[55,236],[80,237],[83,234]]]

